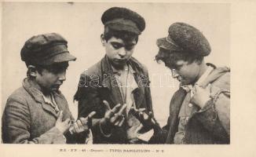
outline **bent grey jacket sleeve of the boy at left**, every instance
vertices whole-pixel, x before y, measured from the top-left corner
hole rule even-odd
[[[31,139],[30,112],[26,103],[9,99],[2,117],[2,140],[17,144],[65,144],[65,137],[53,127],[40,137]]]

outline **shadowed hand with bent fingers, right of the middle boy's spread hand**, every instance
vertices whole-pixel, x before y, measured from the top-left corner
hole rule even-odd
[[[152,111],[149,111],[147,114],[145,110],[145,108],[130,108],[131,114],[133,114],[142,123],[142,125],[147,128],[147,130],[151,130],[155,125],[155,120],[152,119]]]

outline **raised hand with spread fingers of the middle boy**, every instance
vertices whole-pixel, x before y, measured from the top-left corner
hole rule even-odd
[[[125,120],[123,112],[126,111],[126,104],[117,104],[114,108],[110,108],[108,101],[103,101],[104,107],[106,108],[106,112],[104,118],[101,119],[101,129],[110,133],[112,128],[123,126],[123,122]]]

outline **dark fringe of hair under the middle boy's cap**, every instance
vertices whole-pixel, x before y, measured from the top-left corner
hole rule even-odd
[[[124,42],[130,42],[131,40],[135,39],[136,43],[139,39],[139,35],[136,35],[129,31],[115,31],[112,30],[110,27],[104,27],[104,39],[108,42],[109,38],[121,38]]]

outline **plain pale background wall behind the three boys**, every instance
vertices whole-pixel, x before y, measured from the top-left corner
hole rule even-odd
[[[158,52],[155,40],[166,37],[170,24],[185,22],[197,27],[207,37],[212,49],[206,61],[229,66],[229,4],[5,2],[2,5],[2,109],[7,97],[26,77],[27,68],[20,60],[24,42],[32,35],[57,32],[68,40],[69,51],[77,57],[75,62],[70,62],[67,80],[60,87],[76,117],[77,103],[73,102],[73,95],[79,75],[104,57],[100,40],[103,32],[101,15],[112,6],[133,9],[144,16],[146,28],[133,57],[148,67],[155,118],[162,126],[168,117],[170,98],[177,89],[177,82],[166,81],[170,70],[154,61]]]

